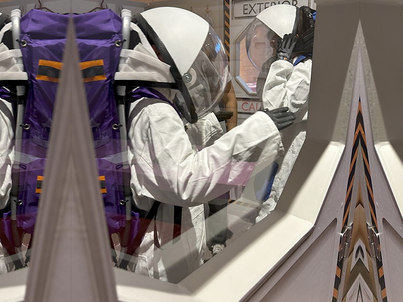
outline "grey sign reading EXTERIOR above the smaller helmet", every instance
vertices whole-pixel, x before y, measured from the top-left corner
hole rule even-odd
[[[308,0],[233,0],[232,17],[233,18],[252,18],[261,11],[278,4],[288,4],[301,7],[308,5]]]

